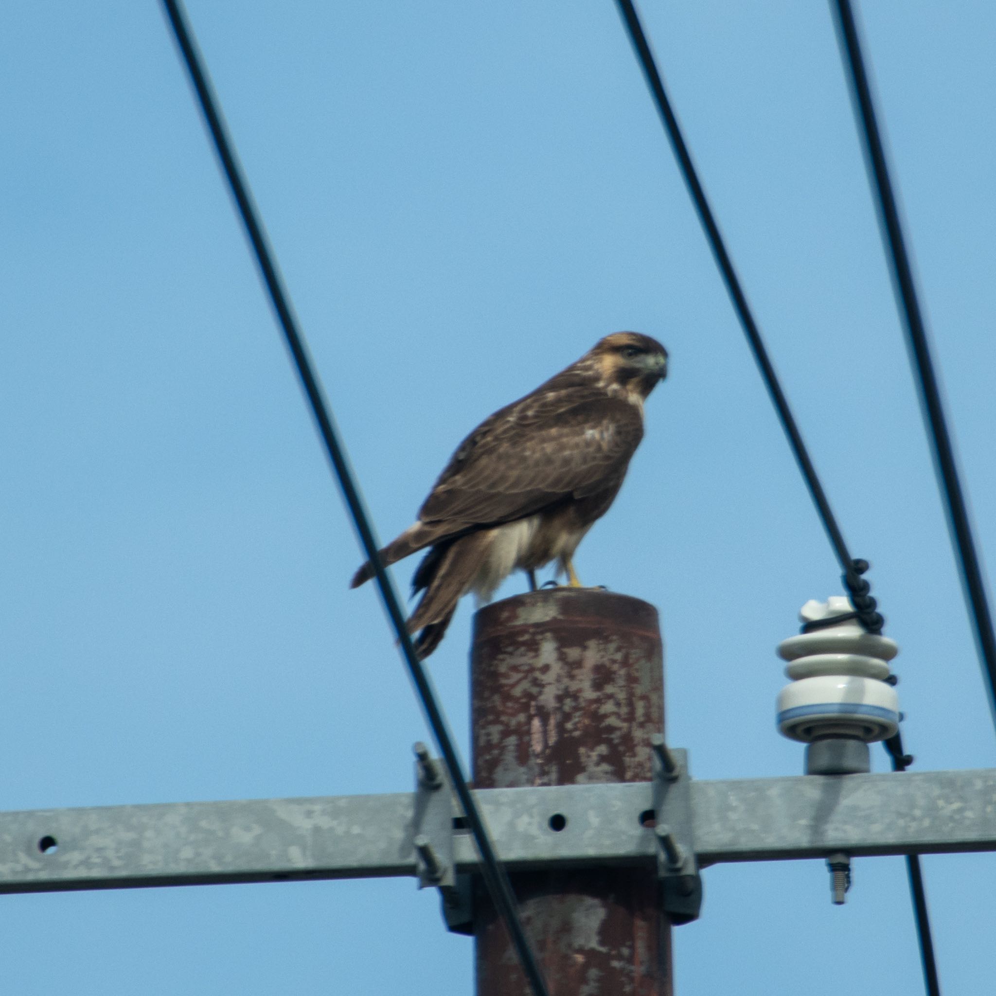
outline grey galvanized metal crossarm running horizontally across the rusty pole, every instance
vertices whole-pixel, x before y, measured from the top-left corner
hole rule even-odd
[[[996,851],[996,769],[689,784],[695,853],[720,862]],[[507,867],[645,865],[650,782],[474,793]],[[678,799],[678,797],[674,797]],[[0,892],[417,876],[415,793],[0,813]],[[667,809],[657,820],[680,825]],[[682,805],[680,802],[677,805]],[[453,813],[459,816],[454,804]],[[561,814],[564,829],[550,818]],[[477,871],[455,830],[457,871]]]

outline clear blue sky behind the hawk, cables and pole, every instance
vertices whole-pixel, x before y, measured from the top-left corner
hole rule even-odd
[[[644,3],[747,293],[902,652],[917,770],[996,764],[824,3]],[[837,568],[605,2],[190,0],[381,536],[462,435],[601,336],[667,381],[584,581],[658,607],[699,778],[801,773],[775,645]],[[996,10],[862,9],[983,556],[996,547]],[[159,7],[13,2],[0,104],[0,800],[405,791],[425,731]],[[409,569],[395,571],[399,587]],[[509,583],[504,594],[521,590]],[[431,658],[466,745],[461,609]],[[884,753],[874,752],[877,770]],[[985,991],[996,860],[923,862]],[[706,871],[682,996],[919,991],[899,859]],[[6,896],[19,994],[461,994],[408,880]],[[856,982],[856,979],[860,982]]]

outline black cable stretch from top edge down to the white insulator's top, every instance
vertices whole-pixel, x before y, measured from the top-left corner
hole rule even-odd
[[[796,424],[792,409],[789,407],[789,402],[785,397],[785,392],[779,383],[778,374],[775,373],[775,368],[768,356],[764,340],[761,338],[761,332],[754,321],[750,305],[747,303],[747,296],[740,286],[740,278],[737,276],[737,272],[733,267],[733,261],[726,250],[723,236],[719,231],[716,219],[713,217],[712,208],[709,206],[705,190],[702,189],[698,173],[695,170],[695,164],[692,162],[688,146],[685,144],[684,136],[681,134],[681,127],[674,116],[674,112],[671,110],[670,101],[667,99],[663,81],[657,70],[653,53],[650,51],[650,45],[646,40],[646,35],[643,33],[639,16],[631,0],[617,0],[617,5],[622,15],[622,21],[629,33],[633,49],[636,52],[636,58],[639,60],[643,75],[646,77],[647,86],[650,88],[650,93],[657,106],[657,112],[664,124],[664,130],[670,139],[671,148],[678,160],[681,175],[684,177],[688,192],[691,194],[692,202],[695,205],[695,210],[698,212],[699,220],[705,229],[712,254],[716,259],[716,264],[719,266],[723,282],[726,284],[726,290],[733,302],[737,317],[740,319],[740,325],[743,327],[751,352],[754,354],[754,359],[761,371],[761,376],[764,378],[768,393],[771,395],[771,400],[775,405],[775,410],[778,412],[782,428],[785,430],[786,436],[788,436],[792,452],[795,454],[796,462],[799,464],[799,469],[802,471],[806,486],[809,488],[810,495],[820,514],[824,529],[826,529],[827,536],[830,538],[831,546],[833,546],[834,552],[837,554],[841,570],[844,572],[844,584],[851,594],[852,603],[859,613],[859,619],[865,628],[870,632],[881,632],[884,620],[875,612],[875,600],[869,594],[869,583],[861,577],[868,570],[868,562],[855,560],[848,551],[844,534],[830,507],[830,502],[827,499],[826,492],[823,490],[823,485],[820,483],[820,478],[817,476],[816,468],[813,466],[809,451],[806,449],[806,443],[803,442],[802,433]]]

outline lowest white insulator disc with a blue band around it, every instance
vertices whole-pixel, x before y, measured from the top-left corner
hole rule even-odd
[[[871,743],[899,728],[899,699],[883,681],[857,675],[821,675],[786,685],[778,695],[778,729],[808,743],[821,736],[852,736]]]

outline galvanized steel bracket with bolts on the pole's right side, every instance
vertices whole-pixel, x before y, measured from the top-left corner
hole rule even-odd
[[[661,907],[671,923],[688,923],[698,918],[702,907],[702,877],[695,858],[688,752],[668,750],[659,734],[651,738],[651,747]]]

